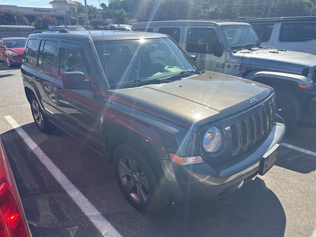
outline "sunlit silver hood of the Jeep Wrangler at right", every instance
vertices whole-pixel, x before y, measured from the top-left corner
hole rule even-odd
[[[275,68],[279,71],[296,71],[302,73],[305,67],[316,66],[316,55],[295,51],[277,51],[276,49],[259,49],[255,51],[242,50],[241,64],[254,68]]]

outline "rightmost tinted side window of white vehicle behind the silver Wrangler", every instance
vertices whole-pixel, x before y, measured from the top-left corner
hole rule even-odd
[[[282,23],[280,41],[308,41],[316,39],[316,22]]]

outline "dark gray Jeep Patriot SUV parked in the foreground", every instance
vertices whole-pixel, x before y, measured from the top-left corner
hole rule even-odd
[[[35,123],[113,162],[138,210],[222,197],[275,164],[285,126],[272,87],[201,71],[162,34],[63,31],[26,44],[21,72]]]

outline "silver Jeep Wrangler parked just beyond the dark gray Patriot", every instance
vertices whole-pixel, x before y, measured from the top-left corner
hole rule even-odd
[[[316,56],[264,48],[248,23],[161,21],[134,23],[132,30],[169,35],[203,70],[274,87],[277,111],[287,128],[302,111],[316,112]]]

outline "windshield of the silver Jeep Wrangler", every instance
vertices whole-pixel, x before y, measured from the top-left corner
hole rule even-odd
[[[251,26],[228,25],[221,27],[229,46],[233,48],[242,46],[258,46],[261,42]]]

